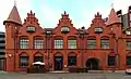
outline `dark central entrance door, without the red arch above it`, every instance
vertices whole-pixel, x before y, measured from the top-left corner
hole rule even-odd
[[[63,57],[55,56],[55,70],[62,70],[63,67]]]

